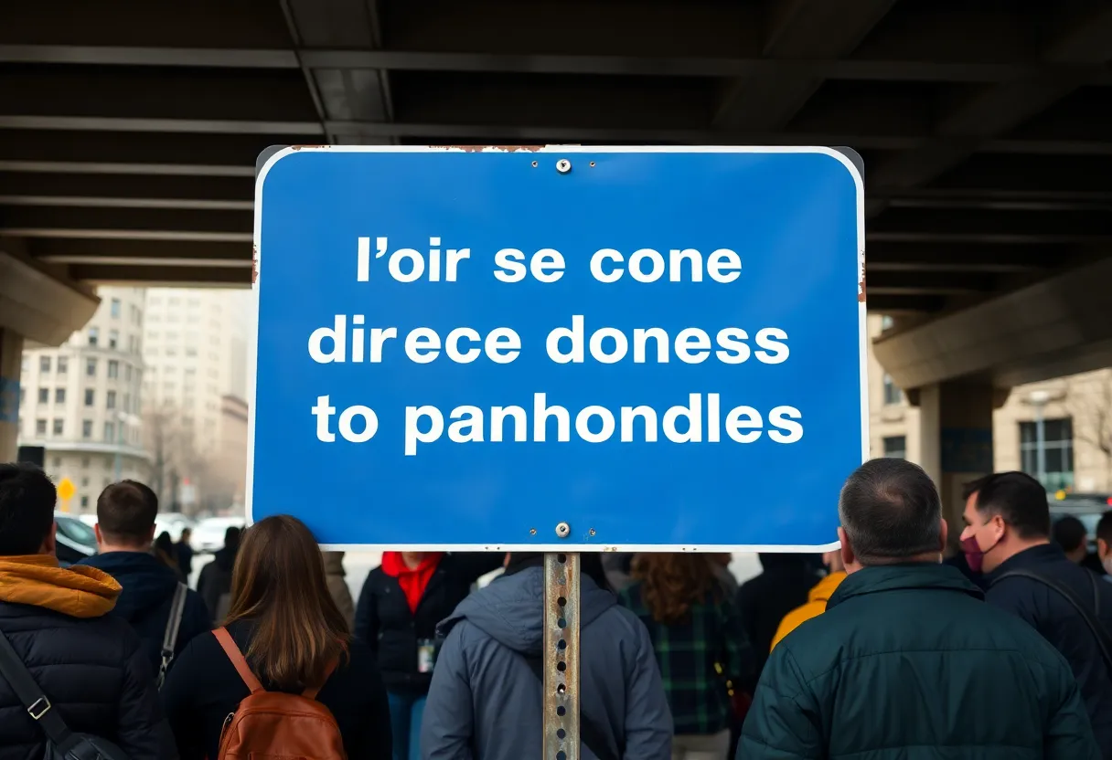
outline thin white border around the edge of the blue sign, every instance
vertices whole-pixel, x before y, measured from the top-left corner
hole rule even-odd
[[[249,340],[248,356],[248,427],[247,427],[247,480],[244,493],[244,508],[247,524],[254,524],[251,507],[255,492],[255,398],[258,381],[258,314],[259,284],[262,280],[262,184],[267,174],[278,161],[299,152],[336,152],[336,153],[439,153],[439,152],[530,152],[530,153],[817,153],[828,156],[838,161],[850,172],[856,187],[857,206],[857,282],[860,292],[865,288],[865,183],[861,171],[850,158],[834,148],[823,146],[544,146],[533,147],[450,147],[450,146],[290,146],[281,148],[267,158],[255,178],[255,221],[254,221],[254,267],[255,278],[251,294],[255,307],[255,326]],[[861,387],[861,461],[868,460],[868,330],[866,324],[866,303],[858,297],[857,303],[857,342],[858,342],[858,377]],[[846,473],[848,476],[850,473]],[[598,543],[326,543],[321,549],[328,551],[563,551],[563,552],[824,552],[837,549],[838,541],[821,546],[731,546],[731,544],[608,544]]]

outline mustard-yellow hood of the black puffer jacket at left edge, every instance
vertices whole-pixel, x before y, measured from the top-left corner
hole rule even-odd
[[[120,584],[96,568],[62,569],[50,554],[0,559],[0,601],[99,618],[112,609],[119,594]]]

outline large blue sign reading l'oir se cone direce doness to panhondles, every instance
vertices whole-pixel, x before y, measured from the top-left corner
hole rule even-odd
[[[867,453],[826,148],[287,148],[248,514],[344,548],[828,548]]]

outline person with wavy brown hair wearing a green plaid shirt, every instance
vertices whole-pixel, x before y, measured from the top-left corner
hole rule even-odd
[[[695,553],[639,554],[637,580],[619,596],[653,640],[672,708],[673,760],[726,760],[728,682],[752,668],[752,650],[713,558]]]

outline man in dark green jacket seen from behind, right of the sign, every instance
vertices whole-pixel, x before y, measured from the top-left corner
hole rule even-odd
[[[1062,656],[941,564],[922,469],[866,462],[838,513],[850,576],[773,650],[737,760],[1100,760]]]

